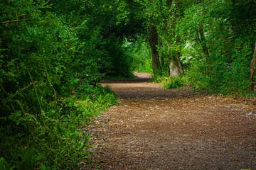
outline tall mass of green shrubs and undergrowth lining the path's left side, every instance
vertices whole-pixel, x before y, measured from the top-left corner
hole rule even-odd
[[[80,2],[0,3],[0,169],[90,161],[86,125],[117,99],[98,84],[113,66]]]

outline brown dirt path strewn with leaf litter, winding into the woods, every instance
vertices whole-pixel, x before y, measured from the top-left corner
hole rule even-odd
[[[137,76],[102,82],[119,105],[90,126],[85,169],[256,170],[255,98],[163,89]]]

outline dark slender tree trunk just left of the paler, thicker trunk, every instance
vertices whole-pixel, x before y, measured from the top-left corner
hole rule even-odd
[[[150,19],[152,20],[152,19]],[[158,45],[158,34],[156,27],[153,26],[152,22],[149,26],[149,43],[152,52],[152,69],[153,74],[156,76],[159,73],[160,62],[159,62],[159,52],[157,51]]]

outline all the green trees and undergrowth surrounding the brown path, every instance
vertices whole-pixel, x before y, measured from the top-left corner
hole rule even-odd
[[[256,95],[254,0],[1,0],[0,169],[90,163],[102,79]]]

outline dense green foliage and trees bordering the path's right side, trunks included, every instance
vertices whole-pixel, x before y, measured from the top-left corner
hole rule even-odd
[[[255,1],[136,1],[155,51],[155,79],[183,76],[181,82],[208,92],[253,93]]]

